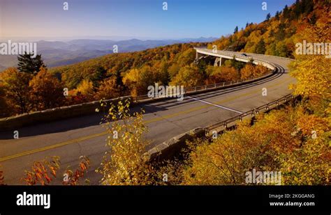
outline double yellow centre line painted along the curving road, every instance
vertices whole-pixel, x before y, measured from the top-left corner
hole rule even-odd
[[[287,81],[288,79],[290,79],[290,77],[287,78],[287,79],[285,79],[285,80],[283,80],[283,81],[281,81],[281,82],[279,82],[279,83],[275,83],[275,84],[269,85],[267,87],[272,88],[274,86],[278,86],[279,84],[284,83],[284,81]],[[252,94],[257,93],[257,92],[260,92],[260,90],[251,90],[249,93],[244,93],[244,94],[241,94],[241,95],[229,97],[228,99],[223,99],[223,100],[221,100],[219,102],[215,102],[215,104],[221,104],[223,102],[230,102],[230,101],[232,101],[234,99],[237,99],[237,98],[240,98],[240,97],[244,97],[244,96],[247,96],[247,95],[252,95]],[[211,105],[207,104],[207,105],[203,105],[203,106],[198,106],[198,107],[195,107],[195,108],[192,108],[192,109],[188,109],[186,111],[179,111],[177,113],[172,113],[170,115],[163,116],[163,117],[160,117],[160,118],[154,118],[152,120],[145,120],[145,123],[148,124],[148,123],[151,123],[151,122],[157,122],[157,121],[161,121],[161,120],[164,120],[164,119],[172,118],[172,117],[175,117],[175,116],[180,116],[182,114],[191,113],[193,111],[198,111],[200,109],[205,109],[208,106],[211,106]],[[22,157],[24,155],[34,154],[36,152],[43,152],[45,150],[50,150],[50,149],[58,148],[58,147],[61,147],[61,146],[64,146],[64,145],[72,144],[72,143],[78,143],[80,141],[86,141],[88,139],[95,138],[95,137],[98,137],[98,136],[103,136],[105,134],[108,134],[108,132],[106,131],[106,132],[101,132],[101,133],[98,133],[98,134],[92,134],[92,135],[84,136],[84,137],[77,138],[77,139],[74,139],[74,140],[71,140],[71,141],[66,141],[66,142],[63,142],[63,143],[57,143],[55,145],[46,146],[44,148],[38,148],[36,150],[30,150],[30,151],[27,151],[27,152],[21,152],[21,153],[18,153],[18,154],[13,154],[13,155],[10,155],[8,157],[2,157],[2,158],[0,158],[0,161],[7,161],[9,159],[14,159],[14,158],[17,158],[17,157]]]

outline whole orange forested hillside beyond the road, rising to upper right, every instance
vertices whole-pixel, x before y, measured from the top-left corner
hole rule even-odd
[[[108,54],[50,70],[44,66],[31,71],[8,68],[0,74],[0,105],[1,109],[6,110],[0,115],[12,116],[129,94],[144,95],[147,86],[154,83],[198,86],[259,77],[267,70],[251,63],[245,65],[228,60],[221,67],[213,67],[212,58],[193,63],[196,56],[193,47],[212,48],[217,45],[218,49],[293,58],[295,42],[302,42],[301,33],[308,26],[323,22],[330,22],[328,1],[302,0],[293,6],[286,6],[274,17],[267,15],[260,24],[247,24],[242,30],[236,27],[232,35],[223,36],[209,44],[183,43],[145,51]],[[29,62],[33,64],[31,59],[25,63]],[[68,90],[66,95],[59,93],[64,90]],[[45,101],[49,102],[46,104]]]

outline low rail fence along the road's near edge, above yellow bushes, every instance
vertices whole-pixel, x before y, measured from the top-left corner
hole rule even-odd
[[[295,97],[292,94],[286,95],[284,97],[281,97],[277,100],[274,100],[272,102],[269,102],[267,104],[263,104],[262,106],[258,106],[257,108],[251,109],[249,111],[246,111],[244,113],[241,113],[240,115],[234,116],[232,118],[228,118],[226,120],[223,120],[221,122],[217,122],[213,125],[209,125],[207,127],[206,133],[209,134],[209,132],[212,132],[218,127],[223,127],[226,129],[230,123],[236,122],[237,120],[242,121],[243,118],[247,116],[255,116],[256,114],[263,112],[263,111],[269,111],[271,109],[277,108],[279,105],[284,104],[285,102],[288,102]]]

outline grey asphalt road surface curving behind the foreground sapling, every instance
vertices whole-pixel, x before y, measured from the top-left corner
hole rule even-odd
[[[255,83],[184,97],[183,101],[168,99],[135,106],[136,111],[146,110],[144,120],[149,127],[146,137],[151,141],[151,148],[178,134],[226,120],[291,93],[288,85],[295,83],[295,79],[288,74],[288,61],[248,55],[274,63],[279,72]],[[262,88],[267,88],[267,96],[262,95]],[[81,155],[89,157],[91,168],[87,178],[91,184],[98,184],[101,175],[94,170],[100,166],[108,149],[105,147],[107,135],[100,121],[101,114],[96,113],[22,127],[17,129],[18,139],[13,139],[13,131],[0,132],[0,170],[3,170],[6,184],[23,184],[20,179],[24,170],[29,170],[34,161],[54,155],[61,158],[59,173],[67,166],[75,169]],[[61,180],[58,177],[52,184],[61,184]]]

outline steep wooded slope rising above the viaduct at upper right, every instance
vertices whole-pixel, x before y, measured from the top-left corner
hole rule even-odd
[[[277,11],[274,17],[268,14],[260,24],[247,23],[239,31],[236,27],[232,35],[223,36],[208,47],[217,45],[218,49],[293,58],[298,33],[310,24],[316,24],[318,19],[330,18],[330,11],[325,10],[328,7],[328,0],[296,1],[293,6]]]

